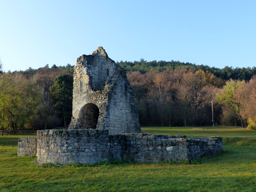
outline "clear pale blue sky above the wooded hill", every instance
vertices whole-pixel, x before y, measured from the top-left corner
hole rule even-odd
[[[256,1],[0,0],[4,71],[74,65],[102,46],[115,61],[256,65]]]

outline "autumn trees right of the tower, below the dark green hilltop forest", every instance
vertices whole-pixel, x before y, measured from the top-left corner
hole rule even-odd
[[[211,72],[128,72],[142,126],[255,125],[256,76],[222,80]]]

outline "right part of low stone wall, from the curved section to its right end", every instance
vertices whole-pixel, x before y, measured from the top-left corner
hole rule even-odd
[[[132,162],[190,162],[209,157],[222,151],[221,137],[181,138],[146,133],[123,134],[126,136],[125,161]],[[208,143],[209,142],[209,143]]]

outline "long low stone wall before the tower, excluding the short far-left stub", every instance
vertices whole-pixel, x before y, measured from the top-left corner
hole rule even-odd
[[[109,134],[108,130],[42,130],[37,132],[38,163],[190,161],[222,151],[221,137],[146,133]]]

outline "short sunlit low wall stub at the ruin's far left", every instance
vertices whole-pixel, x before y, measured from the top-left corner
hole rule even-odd
[[[36,156],[37,155],[37,137],[19,137],[18,156]]]

